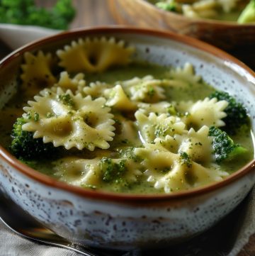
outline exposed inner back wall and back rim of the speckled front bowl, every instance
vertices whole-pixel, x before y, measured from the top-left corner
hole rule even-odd
[[[26,51],[55,51],[78,38],[115,37],[125,40],[136,48],[135,59],[145,60],[164,66],[183,66],[190,62],[205,82],[219,90],[228,91],[247,108],[251,126],[255,130],[255,77],[254,72],[225,52],[198,40],[173,33],[136,28],[96,28],[62,33],[39,40],[16,50],[0,64],[0,102],[1,107],[15,93]],[[0,150],[1,151],[1,150]],[[14,159],[14,158],[13,158]],[[14,160],[15,161],[15,160]],[[229,178],[231,179],[232,176]],[[68,186],[67,186],[68,187]],[[71,186],[69,186],[71,187]],[[190,193],[190,192],[185,192]],[[184,194],[185,194],[184,193]]]

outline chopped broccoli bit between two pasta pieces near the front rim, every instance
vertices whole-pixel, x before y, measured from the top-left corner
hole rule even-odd
[[[120,160],[120,162],[116,163],[111,158],[103,157],[99,166],[103,172],[104,182],[125,183],[123,179],[123,175],[127,171],[125,160]]]

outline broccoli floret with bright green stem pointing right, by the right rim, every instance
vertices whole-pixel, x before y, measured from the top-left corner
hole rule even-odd
[[[235,157],[247,152],[246,148],[235,144],[232,138],[219,128],[210,127],[208,135],[213,137],[212,149],[217,163],[233,160]]]

